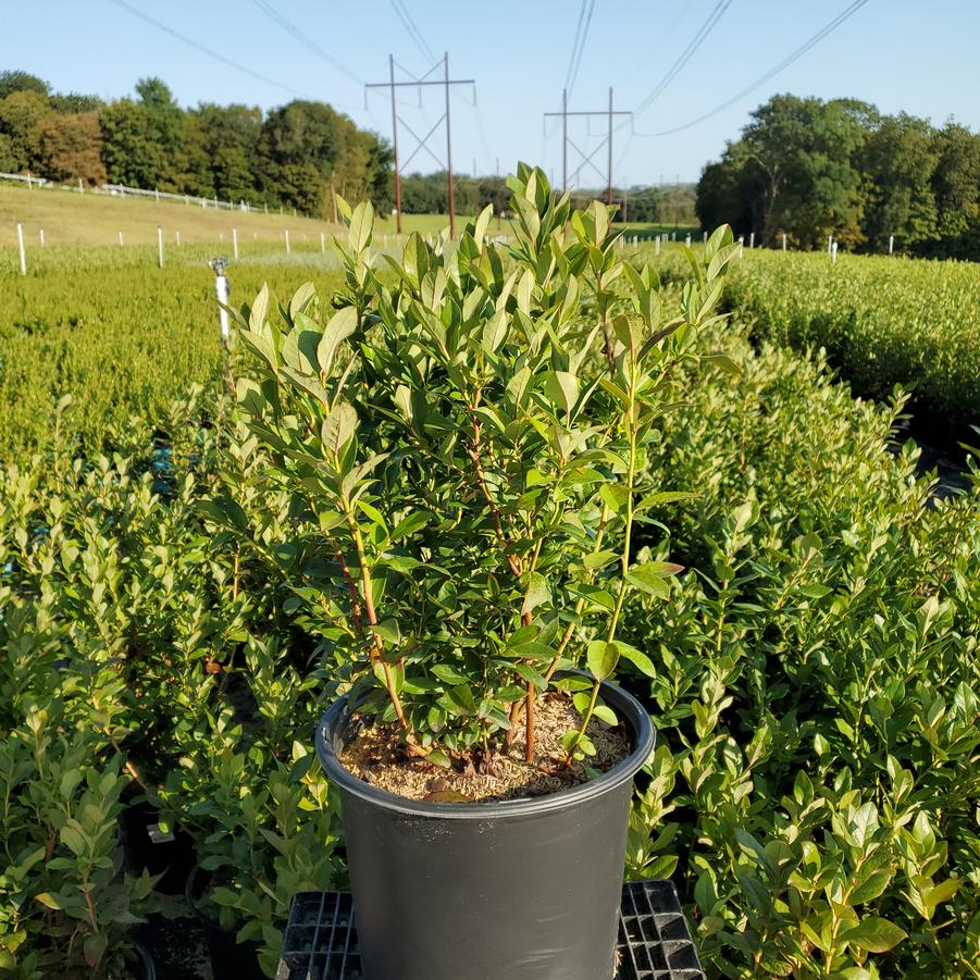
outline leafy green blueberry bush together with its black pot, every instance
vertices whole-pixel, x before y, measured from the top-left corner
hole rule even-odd
[[[265,289],[237,314],[256,355],[241,411],[306,528],[307,622],[333,704],[368,980],[613,975],[633,776],[650,719],[610,683],[654,665],[620,635],[681,569],[637,548],[647,447],[717,319],[728,228],[665,298],[611,210],[573,211],[539,170],[458,241],[372,250],[352,211],[345,284]],[[727,367],[722,358],[716,363]]]

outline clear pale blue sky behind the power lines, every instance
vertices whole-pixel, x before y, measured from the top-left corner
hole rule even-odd
[[[545,135],[542,113],[555,110],[569,71],[580,0],[496,0],[493,3],[401,0],[418,27],[415,44],[392,0],[358,3],[325,0],[265,0],[301,29],[349,74],[303,46],[260,10],[253,0],[127,0],[270,79],[344,108],[361,125],[390,133],[383,95],[364,110],[358,80],[386,80],[388,52],[417,75],[449,51],[455,77],[476,79],[451,101],[456,170],[489,173],[518,159],[561,173],[559,133]],[[617,109],[634,110],[657,86],[695,37],[718,0],[595,0],[570,109],[601,109],[613,87]],[[110,0],[48,0],[44,7],[2,4],[0,67],[20,67],[62,90],[117,97],[142,75],[159,75],[182,104],[247,102],[263,108],[291,98],[282,88],[243,74],[188,48],[141,22]],[[727,101],[808,40],[849,0],[731,0],[704,44],[659,97],[634,117],[635,134],[682,125]],[[905,110],[942,122],[954,116],[980,129],[980,0],[868,0],[838,30],[786,71],[710,120],[681,133],[633,135],[630,124],[613,137],[617,183],[656,183],[677,176],[695,179],[724,140],[737,134],[747,113],[776,91],[851,96],[889,112]],[[353,76],[353,77],[350,77]],[[399,78],[408,76],[399,72]],[[430,89],[420,109],[415,90],[402,90],[399,107],[407,126],[420,135],[443,111],[443,94]],[[604,135],[605,121],[570,124],[569,135],[586,150]],[[481,135],[481,128],[483,135]],[[402,158],[412,140],[401,131]],[[442,157],[445,140],[433,148]],[[570,161],[575,157],[570,151]],[[606,151],[596,162],[605,172]],[[435,169],[420,153],[410,170]],[[574,165],[570,165],[570,172]],[[583,186],[600,184],[583,171]]]

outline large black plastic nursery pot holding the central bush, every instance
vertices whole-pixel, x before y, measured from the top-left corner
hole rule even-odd
[[[642,705],[603,684],[632,753],[587,783],[532,799],[422,803],[340,764],[340,698],[317,752],[340,792],[364,980],[606,980],[633,777],[654,747]]]

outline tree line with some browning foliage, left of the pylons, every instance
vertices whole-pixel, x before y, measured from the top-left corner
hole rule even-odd
[[[333,191],[390,207],[392,153],[324,102],[263,114],[202,102],[183,109],[159,78],[135,98],[53,92],[26,72],[0,72],[0,171],[89,185],[126,184],[247,200],[333,216]]]

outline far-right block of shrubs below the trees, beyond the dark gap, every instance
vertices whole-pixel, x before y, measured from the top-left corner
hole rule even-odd
[[[913,408],[953,432],[980,423],[980,276],[972,263],[746,251],[727,286],[759,335],[826,348],[855,392]]]

